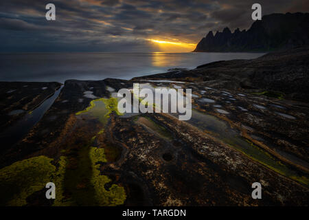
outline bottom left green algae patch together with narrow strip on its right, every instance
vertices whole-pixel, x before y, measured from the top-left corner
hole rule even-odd
[[[58,168],[53,159],[45,156],[32,157],[15,162],[0,170],[1,206],[25,206],[27,197],[42,190],[48,182],[56,186],[54,206],[67,206],[63,196],[63,181],[67,157],[60,157]]]

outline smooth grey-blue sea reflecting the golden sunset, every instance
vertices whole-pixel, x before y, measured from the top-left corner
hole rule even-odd
[[[214,61],[257,58],[258,53],[41,53],[0,54],[0,81],[64,83],[68,79],[130,79],[194,69]]]

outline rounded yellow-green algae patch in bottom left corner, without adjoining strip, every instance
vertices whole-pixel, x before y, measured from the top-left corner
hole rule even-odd
[[[24,206],[27,197],[52,181],[56,166],[45,156],[15,162],[0,170],[1,206]]]

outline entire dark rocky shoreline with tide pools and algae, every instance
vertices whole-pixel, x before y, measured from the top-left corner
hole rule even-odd
[[[67,80],[43,118],[3,148],[1,205],[308,205],[308,51],[299,47],[132,80]],[[192,89],[192,120],[117,113],[113,93],[133,83]],[[60,88],[1,84],[3,129]],[[29,90],[19,91],[25,85]],[[25,112],[14,120],[8,113],[18,109]],[[54,170],[46,176],[60,186],[54,203],[44,203],[43,182],[33,191],[11,189],[14,170],[29,166],[23,173],[30,175],[34,159],[45,164],[38,172]],[[255,181],[263,199],[251,197]]]

